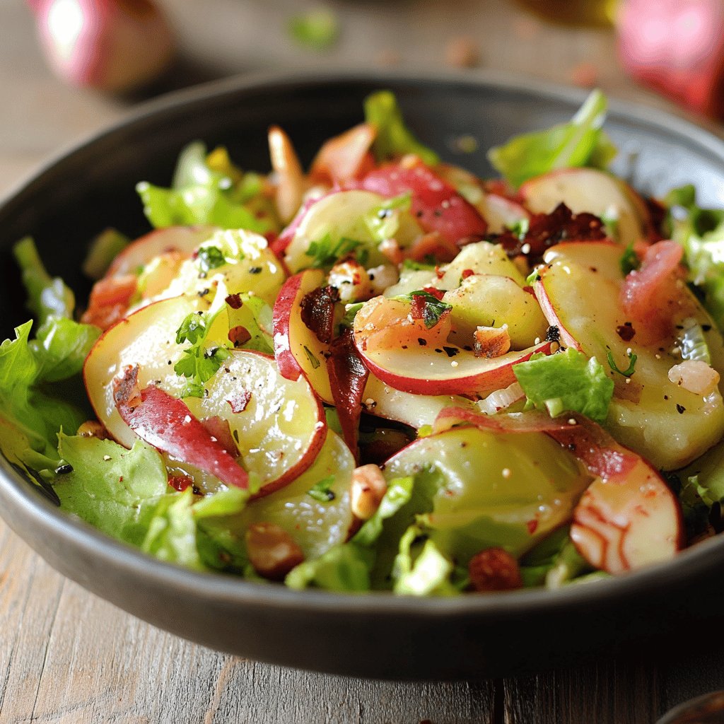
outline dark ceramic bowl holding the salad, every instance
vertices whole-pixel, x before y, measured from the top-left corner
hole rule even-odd
[[[285,75],[232,80],[146,106],[53,161],[2,204],[2,332],[24,319],[9,257],[20,237],[33,235],[51,272],[82,290],[78,266],[88,239],[109,225],[146,230],[134,185],[169,182],[185,143],[224,143],[245,168],[264,170],[266,129],[275,123],[309,161],[324,138],[361,120],[362,99],[381,87],[397,93],[426,143],[480,174],[492,172],[485,149],[570,118],[584,96],[485,75]],[[611,104],[607,130],[623,149],[618,172],[641,190],[694,182],[703,201],[724,203],[721,140],[620,103]],[[455,138],[467,134],[480,150],[456,155]],[[414,599],[297,592],[176,568],[68,517],[8,466],[0,513],[59,571],[156,626],[258,660],[376,678],[521,673],[642,642],[666,641],[670,649],[712,623],[724,592],[724,538],[666,565],[558,592]]]

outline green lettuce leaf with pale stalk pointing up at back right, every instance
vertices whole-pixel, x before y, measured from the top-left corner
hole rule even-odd
[[[505,145],[491,148],[488,159],[515,188],[554,169],[605,168],[616,155],[601,128],[606,107],[606,96],[594,90],[570,122],[515,136]]]

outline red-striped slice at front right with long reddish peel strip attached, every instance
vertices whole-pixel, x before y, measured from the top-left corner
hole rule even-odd
[[[544,432],[584,463],[596,477],[573,510],[571,540],[595,568],[623,573],[669,560],[683,547],[681,508],[660,474],[587,418],[536,412],[484,416],[447,408],[434,429],[460,423],[501,433]]]

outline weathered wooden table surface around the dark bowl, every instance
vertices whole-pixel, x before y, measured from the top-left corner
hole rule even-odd
[[[287,19],[303,7],[293,0],[165,5],[185,62],[161,89],[300,64],[434,68],[452,39],[467,36],[479,67],[562,83],[593,74],[612,96],[672,108],[626,78],[609,30],[549,25],[494,0],[458,0],[452,9],[434,0],[340,2],[330,6],[340,42],[324,55],[290,42]],[[0,0],[0,101],[0,193],[133,102],[56,80],[21,0]],[[358,681],[259,664],[183,641],[88,594],[1,522],[0,631],[2,723],[647,724],[684,699],[724,689],[720,649],[464,683]]]

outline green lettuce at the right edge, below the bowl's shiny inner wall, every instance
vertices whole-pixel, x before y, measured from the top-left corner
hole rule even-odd
[[[724,209],[696,205],[694,186],[671,190],[666,199],[670,237],[683,246],[689,281],[724,331]]]

